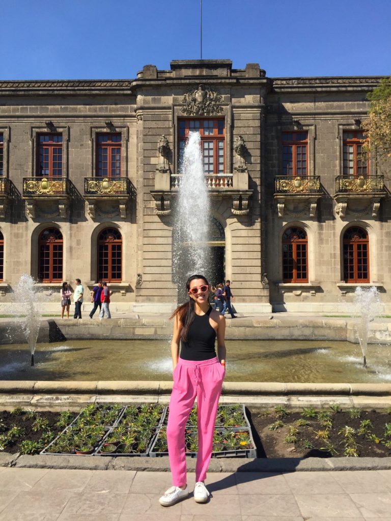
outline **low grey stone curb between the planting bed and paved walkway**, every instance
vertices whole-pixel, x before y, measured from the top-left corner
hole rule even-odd
[[[50,468],[75,470],[136,470],[170,472],[168,457],[54,456],[0,454],[0,467]],[[187,460],[189,472],[195,472],[196,460]],[[212,458],[209,472],[320,472],[340,470],[389,470],[391,457],[331,458]]]

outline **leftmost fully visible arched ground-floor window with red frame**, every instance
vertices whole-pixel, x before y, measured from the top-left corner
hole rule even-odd
[[[38,280],[63,280],[63,235],[57,228],[43,230],[39,238]]]

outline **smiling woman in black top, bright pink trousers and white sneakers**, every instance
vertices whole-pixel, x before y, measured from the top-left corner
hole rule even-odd
[[[212,456],[218,399],[225,376],[225,318],[209,304],[209,282],[202,275],[193,275],[186,282],[186,289],[189,301],[178,306],[171,317],[174,318],[171,343],[174,385],[169,405],[167,444],[173,487],[160,498],[163,506],[174,505],[189,495],[185,427],[196,397],[198,454],[194,500],[205,503],[209,498],[204,480]],[[216,337],[218,356],[215,352]]]

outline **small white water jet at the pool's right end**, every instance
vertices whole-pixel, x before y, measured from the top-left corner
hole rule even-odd
[[[369,322],[381,314],[380,296],[375,286],[371,288],[358,287],[353,299],[355,316],[360,317],[357,323],[357,336],[363,356],[363,366],[366,368],[366,349],[368,348]]]

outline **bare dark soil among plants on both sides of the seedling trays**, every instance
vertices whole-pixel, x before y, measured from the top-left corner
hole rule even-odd
[[[391,456],[391,443],[390,447],[386,447],[383,442],[391,440],[391,436],[385,436],[385,424],[390,425],[391,430],[391,414],[386,412],[372,411],[360,411],[359,418],[351,418],[348,411],[333,412],[330,413],[330,419],[332,421],[332,427],[328,428],[328,439],[319,439],[316,436],[317,431],[326,430],[322,427],[319,419],[303,417],[300,412],[288,412],[287,415],[283,416],[282,421],[284,426],[277,430],[270,430],[269,427],[277,419],[275,411],[265,411],[262,408],[250,407],[246,408],[246,413],[250,420],[252,435],[258,451],[258,457],[264,458],[278,458],[278,457],[331,457],[331,456],[344,456],[346,438],[343,434],[339,434],[340,429],[345,426],[352,427],[357,431],[362,420],[370,420],[372,426],[370,427],[370,433],[372,439],[368,439],[368,435],[358,435],[355,433],[353,436],[354,442],[356,443],[356,452],[358,456],[375,456],[375,457],[386,457]],[[46,418],[50,429],[53,431],[53,436],[63,430],[63,428],[56,427],[55,424],[58,421],[58,413],[51,412],[39,412],[39,416]],[[7,411],[0,412],[0,427],[2,422],[6,427],[3,434],[16,425],[21,427],[24,434],[20,438],[13,438],[13,440],[5,447],[5,452],[14,454],[19,452],[19,443],[23,440],[31,440],[38,442],[41,439],[42,431],[34,432],[32,430],[32,424],[35,418],[28,418],[26,412],[19,414],[12,414]],[[74,415],[76,416],[76,415]],[[300,419],[308,421],[308,426],[297,426],[295,422]],[[285,440],[289,433],[289,428],[294,427],[298,429],[296,433],[297,440],[294,443],[287,442]],[[0,429],[0,437],[2,432]],[[373,438],[377,438],[378,442],[374,441]],[[332,446],[334,450],[329,451],[325,449],[325,445],[329,444],[328,447]],[[43,448],[43,447],[42,447]],[[335,451],[335,452],[334,452]]]

